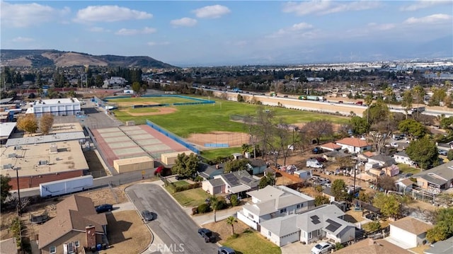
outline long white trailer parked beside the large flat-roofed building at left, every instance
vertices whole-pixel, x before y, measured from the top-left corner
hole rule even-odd
[[[40,183],[41,197],[55,197],[73,192],[80,192],[93,186],[93,175]]]

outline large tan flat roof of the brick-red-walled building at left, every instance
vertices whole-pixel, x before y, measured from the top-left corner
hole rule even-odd
[[[52,145],[57,146],[57,152],[50,152]],[[45,175],[67,171],[88,170],[88,163],[78,141],[54,142],[46,144],[25,144],[21,149],[15,146],[1,147],[0,173],[11,177],[30,175]],[[45,163],[47,161],[47,163]],[[40,165],[44,164],[44,165]],[[8,164],[14,168],[8,168]],[[3,169],[6,168],[6,169]]]

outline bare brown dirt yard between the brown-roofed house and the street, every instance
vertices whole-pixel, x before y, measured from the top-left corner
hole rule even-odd
[[[107,214],[110,248],[99,253],[140,253],[151,243],[151,233],[136,211]]]

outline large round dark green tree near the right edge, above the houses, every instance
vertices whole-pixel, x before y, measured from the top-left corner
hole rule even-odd
[[[439,154],[435,142],[432,142],[428,137],[415,140],[406,147],[406,154],[412,161],[422,168],[428,169],[431,166],[437,165]]]

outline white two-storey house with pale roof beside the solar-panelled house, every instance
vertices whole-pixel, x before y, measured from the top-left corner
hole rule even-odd
[[[251,203],[245,204],[237,217],[256,230],[263,221],[314,207],[313,197],[283,185],[268,185],[263,189],[247,192],[247,195],[251,196]]]

